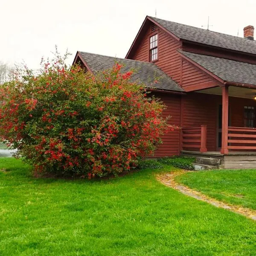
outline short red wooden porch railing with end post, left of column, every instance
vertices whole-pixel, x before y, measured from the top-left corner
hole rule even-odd
[[[207,126],[182,128],[182,149],[207,152],[206,148]]]

